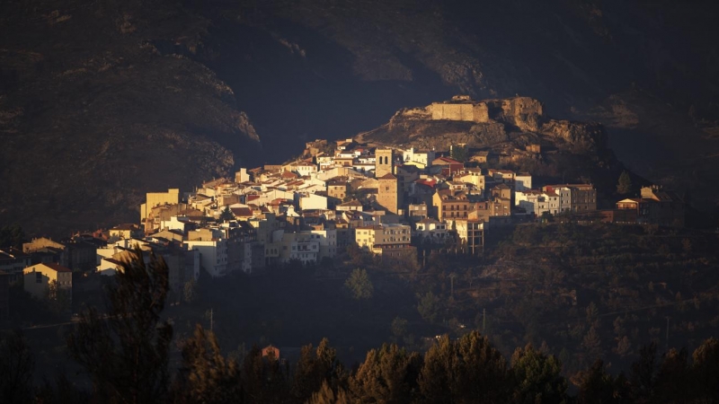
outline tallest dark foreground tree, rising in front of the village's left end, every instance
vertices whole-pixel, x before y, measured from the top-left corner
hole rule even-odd
[[[159,402],[166,397],[173,326],[160,319],[168,291],[164,259],[134,250],[108,291],[108,312],[84,312],[67,338],[70,355],[93,379],[96,400]]]

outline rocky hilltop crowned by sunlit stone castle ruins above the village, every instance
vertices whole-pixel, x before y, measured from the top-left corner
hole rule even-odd
[[[502,150],[545,144],[573,154],[599,154],[607,147],[601,125],[550,119],[542,103],[529,97],[474,101],[455,96],[400,110],[385,126],[359,140],[438,150],[457,144]]]

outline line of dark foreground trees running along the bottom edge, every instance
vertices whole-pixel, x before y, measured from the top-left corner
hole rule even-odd
[[[510,363],[477,331],[444,336],[422,354],[397,345],[368,352],[347,372],[324,339],[301,349],[297,364],[263,356],[259,347],[239,361],[222,355],[217,338],[198,326],[179,344],[182,359],[169,366],[172,325],[160,317],[167,296],[162,259],[146,263],[136,250],[108,294],[108,312],[83,314],[67,344],[93,381],[86,394],[67,378],[31,383],[32,355],[21,334],[0,343],[1,402],[173,403],[704,403],[719,402],[719,340],[707,339],[690,356],[658,355],[650,345],[628,376],[600,360],[576,374],[576,397],[555,356],[528,346]],[[61,375],[62,376],[62,375]],[[172,380],[171,380],[172,379]],[[90,397],[88,397],[88,395]]]

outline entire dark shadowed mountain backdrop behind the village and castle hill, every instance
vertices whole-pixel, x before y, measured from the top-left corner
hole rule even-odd
[[[4,2],[0,221],[31,232],[134,221],[146,191],[282,161],[455,93],[519,93],[557,119],[599,121],[627,167],[712,209],[715,8]]]

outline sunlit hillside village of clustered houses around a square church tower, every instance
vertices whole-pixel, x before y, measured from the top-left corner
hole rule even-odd
[[[538,147],[538,146],[535,146]],[[72,288],[72,271],[111,276],[131,250],[164,257],[173,291],[200,272],[226,277],[333,259],[354,246],[378,259],[417,259],[418,248],[482,256],[494,229],[572,216],[582,221],[682,226],[679,198],[646,187],[641,198],[597,208],[591,184],[537,184],[529,172],[489,168],[491,155],[400,149],[354,139],[316,140],[296,161],[236,171],[200,188],[146,194],[138,224],[37,238],[0,251],[0,270],[25,289]]]

